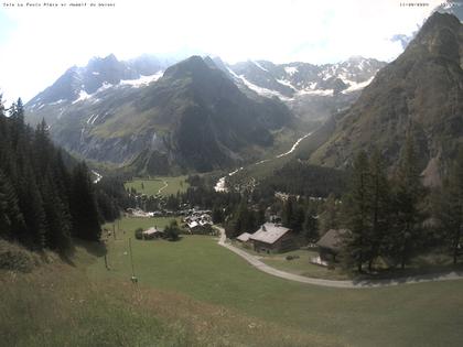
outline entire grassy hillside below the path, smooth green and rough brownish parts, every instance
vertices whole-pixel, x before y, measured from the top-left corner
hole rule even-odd
[[[218,246],[214,237],[183,236],[176,242],[133,237],[138,227],[169,221],[121,219],[116,240],[106,241],[110,270],[100,249],[83,245],[66,262],[54,259],[30,274],[2,272],[3,341],[9,346],[461,346],[463,341],[462,280],[331,289],[260,272]],[[130,258],[138,284],[130,281]]]

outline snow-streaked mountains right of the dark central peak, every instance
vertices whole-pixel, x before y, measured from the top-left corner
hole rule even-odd
[[[384,62],[360,56],[324,65],[301,62],[277,65],[268,61],[227,65],[218,57],[214,63],[241,89],[278,97],[303,119],[325,119],[348,107],[386,66]]]

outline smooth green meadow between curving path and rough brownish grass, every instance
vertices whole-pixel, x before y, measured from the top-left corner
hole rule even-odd
[[[148,286],[343,345],[369,346],[375,340],[378,346],[456,346],[463,339],[463,281],[370,290],[303,285],[258,272],[215,243],[201,236],[173,243],[133,241],[137,275]],[[107,272],[99,260],[91,274],[128,279],[125,251],[126,241],[111,242],[114,270]]]

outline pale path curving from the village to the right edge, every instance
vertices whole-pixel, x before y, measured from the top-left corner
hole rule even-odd
[[[439,274],[423,274],[423,275],[414,275],[414,276],[406,276],[406,278],[397,278],[390,280],[359,280],[359,281],[333,281],[333,280],[323,280],[323,279],[313,279],[308,278],[286,271],[281,271],[274,269],[272,267],[267,265],[257,257],[249,254],[248,252],[226,242],[226,236],[224,228],[216,227],[220,232],[220,238],[218,239],[218,245],[223,246],[234,253],[244,258],[247,262],[249,262],[256,269],[263,271],[268,274],[295,281],[300,283],[306,284],[314,284],[321,286],[330,286],[330,288],[346,288],[346,289],[365,289],[365,288],[378,288],[378,286],[391,286],[391,285],[399,285],[399,284],[411,284],[411,283],[423,283],[423,282],[433,282],[433,281],[451,281],[451,280],[460,280],[463,279],[463,272],[449,272],[449,273],[439,273]]]

